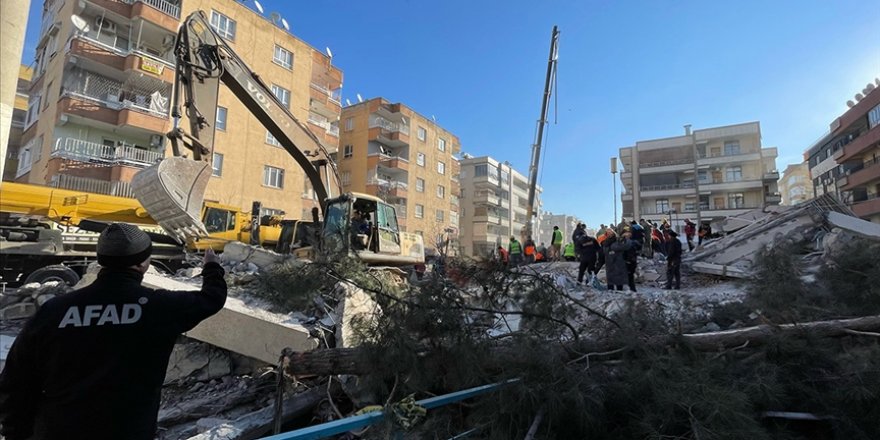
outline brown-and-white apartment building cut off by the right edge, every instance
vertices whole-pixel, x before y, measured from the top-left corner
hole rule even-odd
[[[880,223],[880,80],[869,83],[804,156],[813,193],[832,193],[865,220]]]

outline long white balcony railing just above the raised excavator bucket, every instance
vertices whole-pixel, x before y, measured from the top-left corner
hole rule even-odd
[[[52,147],[51,156],[79,162],[103,162],[145,167],[165,157],[165,153],[128,146],[109,146],[75,138],[59,138]]]

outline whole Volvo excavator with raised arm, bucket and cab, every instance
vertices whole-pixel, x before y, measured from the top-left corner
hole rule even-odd
[[[173,152],[159,163],[138,172],[131,185],[150,216],[169,234],[182,240],[208,235],[200,220],[205,189],[211,176],[214,115],[223,83],[278,140],[309,179],[320,203],[320,224],[311,253],[314,257],[347,253],[370,265],[404,266],[425,259],[422,237],[401,231],[392,205],[359,193],[341,193],[340,179],[329,152],[318,138],[282,105],[270,88],[209,25],[202,11],[181,24],[175,43],[173,129],[168,133]],[[189,132],[181,126],[181,98]],[[181,146],[189,150],[184,154]],[[331,197],[331,180],[338,189]],[[284,232],[282,232],[284,235]]]

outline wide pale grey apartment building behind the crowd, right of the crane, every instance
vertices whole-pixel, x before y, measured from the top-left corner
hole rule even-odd
[[[706,128],[620,149],[623,217],[704,222],[779,204],[776,148],[761,146],[759,122]],[[695,174],[697,178],[695,179]]]

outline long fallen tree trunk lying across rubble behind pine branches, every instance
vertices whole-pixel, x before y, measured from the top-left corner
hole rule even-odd
[[[880,316],[865,316],[852,319],[806,322],[801,324],[759,325],[735,330],[723,330],[711,333],[693,333],[685,335],[663,335],[651,338],[651,345],[671,345],[682,341],[699,351],[716,351],[728,347],[736,347],[749,343],[750,346],[761,345],[777,334],[790,337],[810,335],[829,338],[845,336],[849,330],[862,332],[880,331]],[[581,342],[578,351],[604,352],[620,348],[607,341]],[[506,347],[493,349],[500,354]],[[326,376],[335,374],[369,373],[366,365],[357,363],[358,348],[330,348],[310,352],[296,353],[290,361],[287,372],[298,376]],[[572,358],[578,357],[572,354]]]

